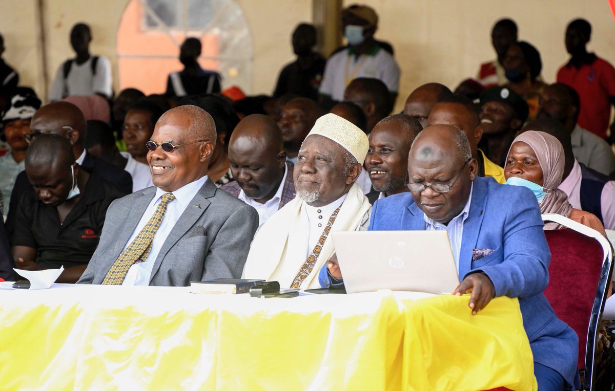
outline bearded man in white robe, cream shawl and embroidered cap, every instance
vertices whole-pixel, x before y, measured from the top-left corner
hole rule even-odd
[[[335,114],[316,121],[295,163],[296,198],[258,230],[242,278],[320,287],[319,269],[333,255],[330,231],[367,230],[371,206],[355,181],[368,147],[365,133]]]

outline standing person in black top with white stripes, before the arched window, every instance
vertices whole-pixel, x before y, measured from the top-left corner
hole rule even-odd
[[[173,72],[167,78],[167,95],[186,96],[196,94],[212,94],[221,90],[221,76],[218,72],[205,71],[197,61],[200,56],[201,44],[194,37],[186,38],[180,47],[180,63],[184,69]]]

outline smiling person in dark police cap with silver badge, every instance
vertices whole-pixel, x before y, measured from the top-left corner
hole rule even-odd
[[[483,128],[481,149],[503,167],[510,144],[528,118],[528,104],[509,88],[487,88],[480,94],[478,117]]]

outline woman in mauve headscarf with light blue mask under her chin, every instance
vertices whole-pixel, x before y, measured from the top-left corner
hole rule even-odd
[[[595,215],[574,209],[568,196],[557,187],[564,172],[564,149],[560,141],[550,134],[526,131],[517,136],[510,146],[504,167],[506,184],[529,188],[538,203],[541,214],[555,213],[589,226],[604,236],[605,227]],[[545,230],[562,228],[557,223],[546,223]]]

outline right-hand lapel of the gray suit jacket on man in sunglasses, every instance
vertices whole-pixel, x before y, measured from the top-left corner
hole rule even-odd
[[[196,223],[200,216],[205,212],[205,209],[207,209],[207,207],[211,204],[208,198],[213,197],[216,190],[216,185],[214,185],[212,181],[205,181],[205,184],[202,185],[188,206],[186,206],[186,210],[181,214],[180,219],[177,220],[177,223],[173,226],[169,236],[167,236],[164,244],[162,244],[160,252],[156,257],[156,261],[154,262],[152,272],[149,276],[149,282],[151,282],[156,275],[162,260],[167,255],[171,247],[173,247],[175,243],[177,243],[177,241],[180,240],[180,238],[184,236],[190,228],[192,228],[194,223]]]

